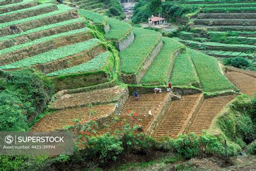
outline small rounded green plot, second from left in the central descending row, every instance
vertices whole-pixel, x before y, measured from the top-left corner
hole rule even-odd
[[[105,38],[121,41],[132,32],[132,26],[118,19],[108,18],[107,22],[110,25],[110,31],[106,33]]]

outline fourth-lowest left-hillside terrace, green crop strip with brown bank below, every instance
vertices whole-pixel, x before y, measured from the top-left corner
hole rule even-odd
[[[0,38],[0,50],[11,46],[31,42],[33,40],[52,36],[62,32],[68,32],[71,30],[77,30],[85,28],[84,22],[81,22],[82,18],[71,19],[69,21],[59,22],[42,26],[39,28],[31,29],[17,35],[9,35]]]

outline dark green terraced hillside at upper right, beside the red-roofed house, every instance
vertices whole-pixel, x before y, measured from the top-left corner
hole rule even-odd
[[[224,59],[245,57],[256,61],[255,1],[176,1],[201,8],[180,42]],[[196,18],[195,18],[196,17]]]

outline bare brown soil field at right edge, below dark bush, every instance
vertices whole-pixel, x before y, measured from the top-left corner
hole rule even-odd
[[[256,92],[256,78],[248,76],[248,74],[241,72],[227,72],[227,78],[240,89],[241,93],[253,97]]]

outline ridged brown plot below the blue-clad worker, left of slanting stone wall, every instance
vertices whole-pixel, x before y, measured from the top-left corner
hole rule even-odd
[[[167,94],[168,93],[141,94],[139,95],[139,100],[135,100],[134,97],[130,97],[118,117],[119,120],[116,123],[110,125],[108,128],[100,131],[99,134],[102,134],[104,132],[113,133],[116,129],[120,129],[122,127],[121,123],[124,119],[133,124],[133,121],[130,119],[131,111],[135,112],[138,115],[134,118],[142,120],[136,123],[143,127],[143,131],[146,131],[151,121],[160,112],[160,109],[163,106],[165,99],[167,98]],[[151,111],[151,115],[149,114],[149,111]]]

